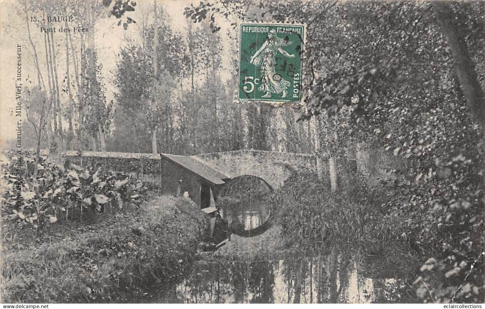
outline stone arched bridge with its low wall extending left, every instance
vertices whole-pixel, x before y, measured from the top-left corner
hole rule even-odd
[[[65,151],[65,159],[72,163],[81,163],[77,151]],[[297,171],[315,171],[315,156],[301,153],[273,152],[263,150],[234,150],[225,152],[204,153],[194,156],[176,156],[162,154],[162,157],[178,161],[183,168],[193,168],[192,178],[200,178],[200,172],[215,170],[222,175],[221,179],[231,179],[242,175],[256,176],[266,181],[273,189],[280,188],[286,179]],[[142,179],[160,183],[160,176],[166,175],[167,181],[177,181],[177,172],[166,170],[160,155],[148,153],[99,152],[84,151],[84,164],[91,163],[111,168],[115,171],[136,173]],[[198,172],[198,173],[197,173]],[[171,177],[171,175],[173,176]],[[224,182],[224,181],[223,181]]]

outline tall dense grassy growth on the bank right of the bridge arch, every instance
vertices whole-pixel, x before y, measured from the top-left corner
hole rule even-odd
[[[357,242],[394,237],[396,233],[389,234],[390,227],[379,222],[384,216],[379,205],[386,196],[366,188],[357,178],[348,180],[347,188],[333,193],[315,174],[289,179],[273,199],[283,235],[306,246],[328,239]]]

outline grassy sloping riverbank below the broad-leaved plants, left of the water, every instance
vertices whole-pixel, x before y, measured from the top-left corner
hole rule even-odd
[[[184,276],[207,223],[189,199],[153,196],[96,223],[46,231],[30,243],[3,234],[1,301],[143,301]]]

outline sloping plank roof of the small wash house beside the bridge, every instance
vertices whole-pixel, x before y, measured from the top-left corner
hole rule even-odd
[[[224,181],[224,179],[227,179],[226,175],[213,169],[209,165],[204,164],[200,160],[195,159],[194,157],[171,155],[167,153],[161,153],[160,156],[162,159],[167,159],[169,162],[175,163],[178,166],[191,171],[212,184],[226,183],[226,181]]]

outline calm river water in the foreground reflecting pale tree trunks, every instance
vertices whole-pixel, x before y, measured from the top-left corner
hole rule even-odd
[[[256,237],[233,235],[207,253],[157,302],[386,303],[416,301],[419,257],[402,244],[328,244],[304,252],[285,249],[279,228]],[[414,265],[414,266],[413,266]]]

